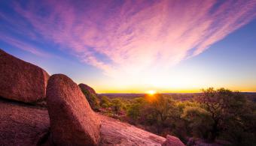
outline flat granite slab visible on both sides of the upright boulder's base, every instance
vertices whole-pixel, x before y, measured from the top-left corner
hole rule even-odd
[[[0,145],[52,145],[47,109],[0,100]],[[102,122],[99,145],[161,145],[166,139],[130,124],[97,115]]]

